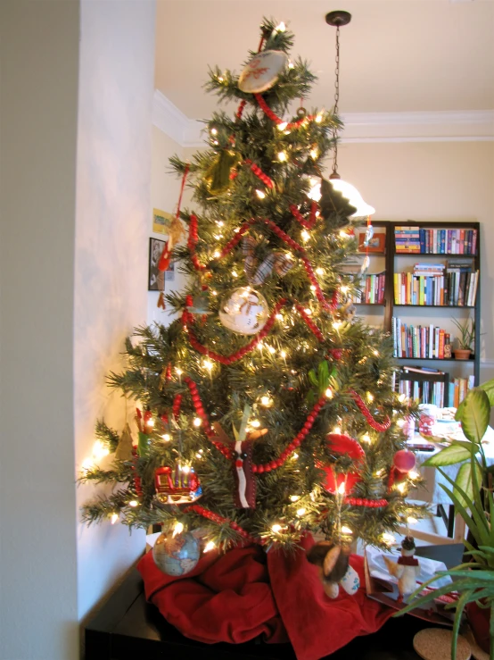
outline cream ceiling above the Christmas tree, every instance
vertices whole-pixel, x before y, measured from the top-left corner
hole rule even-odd
[[[292,55],[318,82],[308,108],[333,104],[335,29],[344,9],[341,113],[494,110],[494,0],[158,0],[155,87],[189,119],[217,106],[208,66],[242,71],[263,16],[295,34]]]

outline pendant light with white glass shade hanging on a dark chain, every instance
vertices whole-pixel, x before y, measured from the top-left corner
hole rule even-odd
[[[336,69],[335,69],[335,79],[334,79],[334,114],[338,114],[338,102],[340,100],[340,28],[343,25],[348,25],[351,20],[351,14],[348,12],[343,12],[337,10],[335,12],[326,13],[325,21],[328,25],[332,25],[336,28]],[[338,190],[342,193],[346,199],[349,200],[352,206],[355,206],[357,211],[353,213],[352,218],[365,218],[373,213],[375,213],[375,208],[371,205],[366,204],[362,196],[358,192],[358,189],[355,186],[352,186],[351,183],[342,180],[342,177],[338,174],[338,141],[337,141],[337,131],[333,130],[334,139],[334,151],[333,151],[333,171],[329,177],[329,180],[335,190]]]

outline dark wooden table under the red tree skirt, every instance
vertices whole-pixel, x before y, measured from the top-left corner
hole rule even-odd
[[[417,547],[417,556],[461,562],[462,544]],[[413,616],[391,618],[381,630],[353,639],[331,655],[332,660],[420,660],[412,641],[417,631],[430,627]],[[187,639],[146,603],[144,585],[134,569],[106,604],[86,625],[86,660],[296,660],[290,644],[265,644],[253,639],[246,644],[207,645]],[[330,656],[327,656],[330,657]]]

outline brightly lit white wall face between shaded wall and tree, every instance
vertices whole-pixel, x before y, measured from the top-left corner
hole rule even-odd
[[[105,386],[125,337],[145,322],[151,221],[154,0],[83,0],[79,66],[74,401],[76,469],[96,418],[121,430],[124,399]],[[128,421],[133,406],[128,406]],[[99,489],[78,489],[78,506]],[[78,523],[78,613],[144,550],[144,531]]]

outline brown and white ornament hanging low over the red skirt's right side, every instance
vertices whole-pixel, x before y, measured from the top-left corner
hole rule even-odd
[[[326,596],[337,598],[340,585],[350,596],[358,591],[360,579],[350,566],[349,556],[348,547],[335,546],[330,541],[320,541],[309,549],[307,559],[318,566]]]

